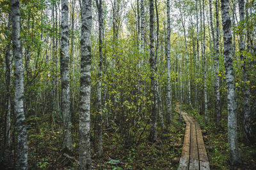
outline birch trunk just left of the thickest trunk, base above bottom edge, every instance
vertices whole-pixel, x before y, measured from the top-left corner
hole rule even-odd
[[[61,113],[63,117],[63,148],[72,151],[71,122],[70,122],[70,89],[69,89],[69,28],[68,28],[68,1],[61,0]]]

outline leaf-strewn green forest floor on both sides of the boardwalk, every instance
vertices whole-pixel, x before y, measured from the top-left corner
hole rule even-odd
[[[157,129],[159,133],[156,143],[148,141],[150,124],[145,128],[140,141],[138,142],[137,136],[134,138],[134,144],[128,148],[124,146],[124,139],[115,127],[104,131],[104,153],[101,158],[98,158],[95,152],[97,139],[93,140],[92,136],[93,169],[177,169],[186,123],[179,118],[179,113],[174,109],[174,103],[172,108],[172,124],[164,131]],[[221,128],[218,129],[212,120],[206,126],[204,115],[199,115],[198,111],[192,110],[189,106],[182,104],[182,111],[196,118],[200,124],[211,169],[256,169],[256,145],[246,143],[243,140],[243,134],[239,134],[243,164],[232,167],[228,162],[227,127],[225,126],[227,122],[221,122]],[[223,117],[223,120],[227,118]],[[69,158],[61,151],[61,124],[52,122],[51,114],[45,114],[42,118],[29,117],[27,124],[29,125],[29,169],[77,169],[79,149],[77,124],[72,127],[74,152],[67,153],[70,155]],[[16,157],[15,150],[12,148],[12,152],[6,155],[5,160],[2,161],[4,164],[0,164],[1,169],[15,167],[15,159],[13,159]]]

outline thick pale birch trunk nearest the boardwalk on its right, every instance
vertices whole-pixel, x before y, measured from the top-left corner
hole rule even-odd
[[[229,15],[228,0],[221,0],[221,18],[224,39],[224,64],[227,81],[227,104],[228,104],[228,146],[230,163],[235,165],[241,163],[237,141],[237,113],[236,113],[236,91],[234,85],[234,71],[232,59],[232,34],[231,20]]]

